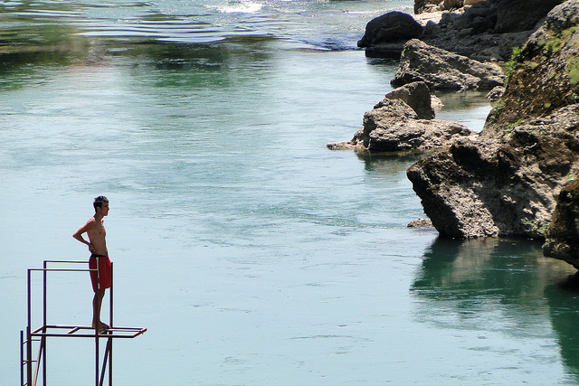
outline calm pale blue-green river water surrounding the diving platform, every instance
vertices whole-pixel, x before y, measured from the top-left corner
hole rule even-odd
[[[115,384],[578,383],[573,268],[406,228],[418,155],[326,148],[391,89],[365,23],[412,4],[0,2],[0,385],[26,268],[87,259],[71,234],[100,194],[115,325],[147,327],[115,344]],[[442,98],[482,127],[479,95]],[[90,324],[86,273],[48,287],[49,324]],[[94,384],[93,350],[49,340],[48,384]]]

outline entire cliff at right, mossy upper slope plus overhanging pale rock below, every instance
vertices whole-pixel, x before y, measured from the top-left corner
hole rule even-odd
[[[443,235],[544,238],[556,197],[579,175],[575,61],[579,0],[556,6],[510,63],[483,133],[408,170]]]

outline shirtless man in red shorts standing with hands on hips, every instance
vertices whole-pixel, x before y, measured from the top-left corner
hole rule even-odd
[[[107,197],[100,195],[94,199],[94,216],[90,217],[84,225],[76,230],[72,237],[81,243],[89,246],[90,259],[89,268],[94,298],[92,299],[92,327],[106,330],[109,325],[100,321],[100,306],[102,298],[105,296],[105,289],[111,286],[111,268],[109,260],[109,251],[105,236],[104,217],[109,214],[109,200]],[[82,235],[87,233],[89,241],[85,240]]]

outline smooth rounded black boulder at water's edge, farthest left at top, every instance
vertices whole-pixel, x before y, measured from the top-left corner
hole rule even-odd
[[[410,14],[389,12],[376,17],[365,26],[365,34],[358,47],[370,47],[389,42],[406,42],[422,34],[422,25]]]

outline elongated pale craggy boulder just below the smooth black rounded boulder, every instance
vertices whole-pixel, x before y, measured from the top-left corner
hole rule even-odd
[[[495,63],[474,61],[413,39],[406,42],[391,83],[401,86],[423,81],[430,89],[464,90],[492,89],[504,80],[503,71]]]

